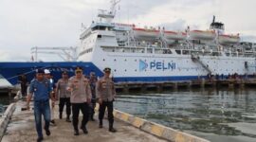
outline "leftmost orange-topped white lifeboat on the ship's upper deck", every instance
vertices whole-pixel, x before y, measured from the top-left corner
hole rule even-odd
[[[156,39],[160,37],[160,31],[146,28],[133,28],[136,39]]]

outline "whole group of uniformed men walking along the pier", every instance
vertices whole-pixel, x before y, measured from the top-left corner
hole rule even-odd
[[[82,122],[80,129],[82,133],[88,133],[86,124],[94,119],[94,109],[96,102],[100,104],[99,110],[99,128],[103,127],[103,116],[105,109],[108,110],[109,132],[117,132],[114,129],[113,101],[116,97],[116,91],[113,80],[110,78],[111,69],[106,67],[104,76],[97,80],[95,73],[91,72],[89,79],[83,75],[82,67],[75,69],[75,76],[69,78],[68,73],[62,73],[62,79],[55,84],[48,70],[38,69],[36,78],[30,82],[29,93],[27,95],[27,109],[29,102],[33,97],[34,116],[36,130],[38,133],[37,141],[44,139],[42,131],[42,115],[45,119],[46,135],[50,135],[50,123],[54,121],[54,106],[59,100],[59,118],[63,118],[64,106],[66,122],[71,122],[74,128],[74,135],[79,135],[79,114],[82,112]],[[72,110],[72,112],[71,112]],[[72,120],[70,115],[72,114]]]

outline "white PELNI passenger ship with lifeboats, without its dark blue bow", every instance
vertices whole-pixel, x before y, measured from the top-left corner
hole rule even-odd
[[[256,72],[256,44],[241,43],[225,33],[223,23],[208,30],[172,31],[164,27],[137,27],[115,23],[118,4],[100,10],[80,36],[78,62],[108,66],[116,81],[194,80],[207,75],[251,76]]]

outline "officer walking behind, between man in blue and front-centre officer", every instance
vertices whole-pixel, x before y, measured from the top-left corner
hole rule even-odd
[[[63,111],[65,105],[66,122],[71,122],[71,103],[70,103],[70,92],[66,90],[68,84],[68,74],[66,71],[63,72],[63,78],[58,80],[56,85],[56,100],[60,99],[59,103],[59,118],[63,118]]]

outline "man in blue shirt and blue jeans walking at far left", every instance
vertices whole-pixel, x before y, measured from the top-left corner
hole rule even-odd
[[[49,98],[52,91],[50,81],[44,77],[45,71],[38,69],[36,79],[32,80],[29,87],[29,94],[27,96],[27,110],[29,110],[29,102],[34,96],[34,115],[36,131],[38,134],[37,141],[41,142],[44,139],[42,133],[42,115],[45,118],[46,135],[50,135],[50,107]],[[51,96],[52,97],[52,96]]]

